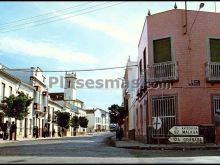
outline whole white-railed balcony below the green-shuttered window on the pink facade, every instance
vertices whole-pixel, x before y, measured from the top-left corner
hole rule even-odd
[[[177,81],[177,63],[176,62],[163,62],[155,63],[148,66],[148,82],[167,82]]]

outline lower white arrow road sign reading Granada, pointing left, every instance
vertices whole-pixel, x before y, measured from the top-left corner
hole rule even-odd
[[[168,140],[173,143],[204,143],[203,137],[170,137]]]

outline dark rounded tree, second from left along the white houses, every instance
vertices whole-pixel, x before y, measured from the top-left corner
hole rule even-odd
[[[70,113],[57,111],[56,115],[57,115],[57,124],[60,127],[64,127],[68,129],[70,123]]]

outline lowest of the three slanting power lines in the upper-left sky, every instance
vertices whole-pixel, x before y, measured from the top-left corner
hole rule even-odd
[[[102,9],[105,9],[105,8],[109,8],[109,7],[112,7],[112,6],[115,6],[115,5],[119,5],[119,4],[121,4],[121,3],[124,3],[124,2],[116,3],[116,4],[109,5],[109,6],[106,6],[106,7],[103,7],[103,8],[94,9],[94,10],[91,10],[91,11],[88,11],[88,12],[84,12],[84,13],[80,13],[80,14],[77,14],[77,15],[71,15],[71,16],[65,17],[65,18],[73,18],[73,17],[80,16],[80,15],[83,15],[83,14],[87,14],[87,13],[95,12],[95,11],[102,10]],[[63,19],[63,18],[61,18],[61,19],[56,19],[56,20],[52,20],[52,21],[49,21],[49,22],[32,25],[31,27],[36,27],[36,26],[40,26],[40,25],[52,23],[52,22],[55,22],[55,21],[62,21],[62,20],[64,20],[64,19]],[[0,33],[7,33],[7,32],[17,31],[17,30],[22,30],[22,29],[25,29],[25,27],[18,28],[18,29],[12,29],[12,30],[8,30],[8,31],[3,31],[3,32],[0,32]]]

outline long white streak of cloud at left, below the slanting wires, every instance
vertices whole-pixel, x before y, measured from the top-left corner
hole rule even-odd
[[[64,48],[52,42],[36,42],[21,38],[0,38],[0,51],[35,57],[46,57],[67,63],[97,63],[94,56]]]

